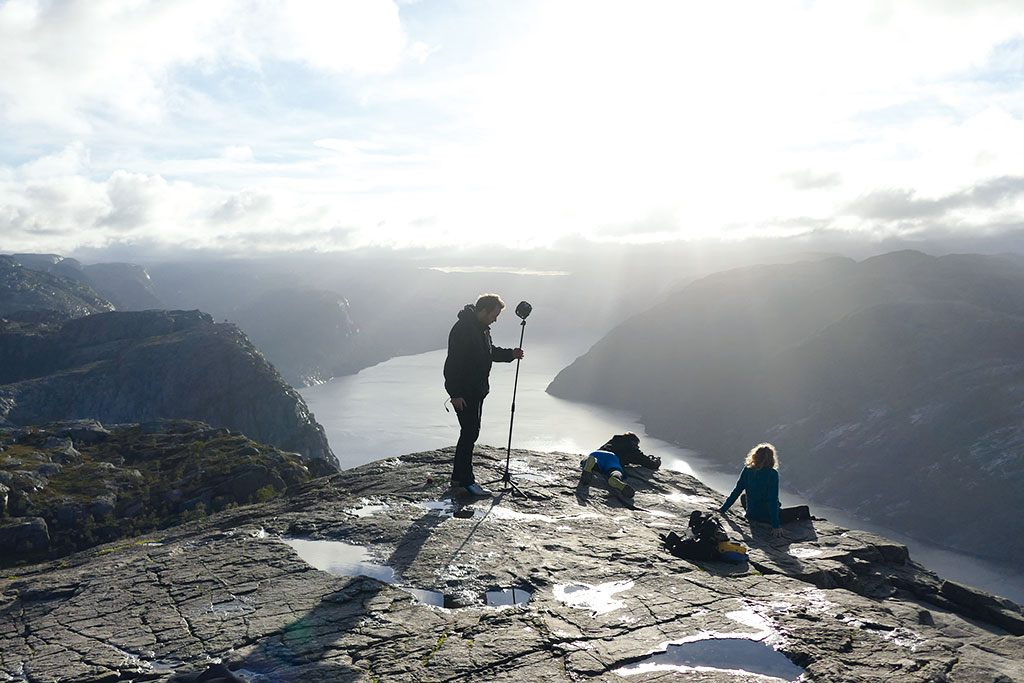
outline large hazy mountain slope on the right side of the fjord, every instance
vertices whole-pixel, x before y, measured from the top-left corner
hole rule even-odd
[[[697,281],[563,370],[554,395],[641,414],[737,472],[1002,560],[1024,513],[1024,262],[896,252]]]

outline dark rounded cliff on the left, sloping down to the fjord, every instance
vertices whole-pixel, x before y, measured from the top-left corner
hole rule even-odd
[[[0,334],[0,419],[11,425],[197,420],[337,469],[305,401],[233,325],[199,311],[110,312]]]

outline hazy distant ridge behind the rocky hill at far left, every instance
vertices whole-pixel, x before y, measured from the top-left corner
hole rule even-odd
[[[165,306],[153,288],[150,273],[133,263],[82,265],[74,258],[57,254],[13,254],[24,267],[67,278],[91,287],[118,310],[145,310]]]

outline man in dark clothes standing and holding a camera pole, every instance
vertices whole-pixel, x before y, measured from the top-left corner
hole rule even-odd
[[[490,343],[490,325],[505,308],[497,294],[482,294],[475,304],[466,304],[449,333],[444,359],[444,390],[459,416],[459,442],[455,446],[452,486],[464,486],[473,496],[489,496],[473,477],[473,445],[480,435],[483,399],[490,391],[490,364],[512,362],[522,357],[521,348],[501,348]]]

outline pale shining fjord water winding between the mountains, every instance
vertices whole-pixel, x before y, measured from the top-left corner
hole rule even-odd
[[[512,326],[502,329],[503,322],[494,331],[495,343],[514,346],[513,336],[519,331]],[[556,398],[545,391],[554,376],[586,352],[594,340],[594,337],[578,337],[530,342],[527,335],[523,344],[526,356],[519,364],[515,391],[513,456],[515,450],[522,449],[553,454],[544,457],[577,459],[600,446],[612,434],[634,431],[640,435],[644,452],[660,456],[665,467],[693,474],[720,493],[731,490],[742,454],[736,456],[735,472],[723,471],[693,451],[647,436],[636,415]],[[445,412],[447,394],[441,375],[444,354],[444,350],[436,350],[399,356],[356,375],[301,391],[327,430],[331,447],[343,468],[455,444],[459,423],[451,405]],[[515,374],[515,362],[495,364],[479,443],[507,447]],[[785,460],[782,462],[784,482]],[[480,479],[494,476],[487,472],[477,474]],[[451,471],[444,470],[434,476],[446,481],[450,475]],[[784,489],[780,498],[784,506],[808,503],[818,517],[903,543],[910,549],[913,560],[943,578],[1024,602],[1024,578],[1013,568],[907,538],[841,510],[809,503]]]

